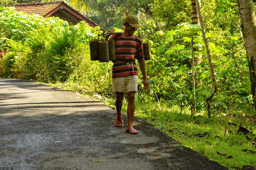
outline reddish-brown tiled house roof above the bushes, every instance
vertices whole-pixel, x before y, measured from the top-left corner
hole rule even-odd
[[[86,18],[84,15],[80,14],[78,11],[71,8],[69,5],[64,3],[64,1],[52,1],[52,2],[39,2],[39,3],[26,3],[26,4],[12,4],[16,11],[26,12],[28,14],[39,14],[44,18],[50,17],[54,12],[64,9],[74,15],[81,21],[85,21],[90,26],[95,27],[99,26],[89,18]]]

